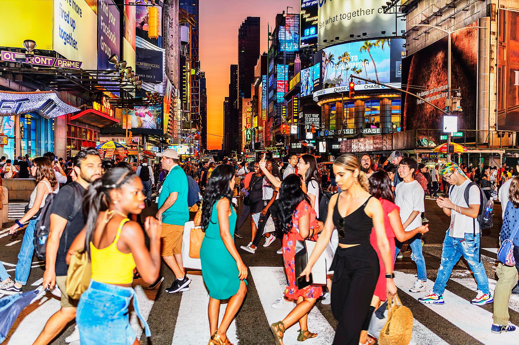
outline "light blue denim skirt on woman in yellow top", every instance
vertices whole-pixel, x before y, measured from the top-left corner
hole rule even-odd
[[[136,335],[129,321],[128,307],[133,297],[133,309],[144,325],[146,337],[149,326],[142,318],[137,296],[131,287],[90,281],[77,306],[76,323],[81,345],[131,345]]]

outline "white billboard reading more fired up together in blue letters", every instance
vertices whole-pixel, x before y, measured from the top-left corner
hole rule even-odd
[[[54,0],[54,50],[97,69],[97,15],[85,0]]]

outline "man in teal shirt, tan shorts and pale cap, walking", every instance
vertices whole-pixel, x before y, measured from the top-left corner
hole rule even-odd
[[[184,223],[189,221],[187,206],[187,177],[179,165],[179,153],[172,149],[157,153],[162,157],[162,168],[169,171],[162,182],[158,198],[157,219],[162,221],[162,258],[173,271],[176,279],[169,293],[188,291],[191,280],[187,278],[182,266],[182,234]]]

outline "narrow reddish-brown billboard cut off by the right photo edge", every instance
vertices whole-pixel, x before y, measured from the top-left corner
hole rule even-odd
[[[519,12],[498,16],[497,130],[519,131]]]

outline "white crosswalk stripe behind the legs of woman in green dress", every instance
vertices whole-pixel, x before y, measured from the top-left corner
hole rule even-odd
[[[172,345],[176,344],[204,344],[209,341],[209,320],[207,307],[209,295],[203,284],[202,276],[189,276],[192,282],[189,284],[189,291],[182,294],[179,315],[177,317],[175,330],[173,333]],[[220,306],[220,317],[218,323],[222,321],[227,304]],[[196,329],[196,332],[193,330]],[[229,341],[238,344],[236,335],[236,320],[233,320],[227,330]],[[186,342],[187,341],[187,342]]]

